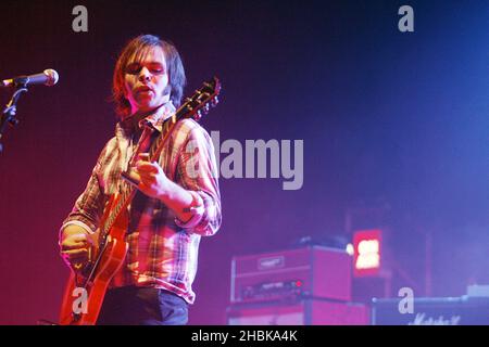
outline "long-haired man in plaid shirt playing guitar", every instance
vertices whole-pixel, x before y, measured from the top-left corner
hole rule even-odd
[[[71,267],[86,262],[108,197],[122,189],[121,172],[130,169],[140,182],[128,207],[128,252],[98,324],[188,321],[200,239],[221,226],[214,147],[198,123],[181,119],[158,160],[150,162],[147,153],[179,106],[185,82],[175,47],[152,35],[131,39],[116,62],[113,99],[121,118],[115,136],[60,230],[63,259]]]

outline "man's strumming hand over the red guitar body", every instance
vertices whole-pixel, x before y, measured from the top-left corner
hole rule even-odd
[[[64,261],[72,268],[87,262],[89,248],[95,245],[96,234],[89,234],[84,228],[71,224],[61,234],[60,248]]]

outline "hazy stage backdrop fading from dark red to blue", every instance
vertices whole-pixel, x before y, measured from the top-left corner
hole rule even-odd
[[[88,33],[72,30],[77,4]],[[394,293],[457,296],[489,283],[487,1],[410,1],[410,34],[397,27],[402,4],[2,1],[0,78],[51,67],[60,81],[22,97],[2,141],[0,324],[58,319],[68,274],[58,230],[112,137],[115,57],[139,34],[175,42],[186,94],[222,79],[222,103],[202,120],[221,142],[304,141],[300,190],[221,179],[223,224],[201,243],[190,324],[226,323],[233,256],[348,240],[346,211],[362,204],[390,206],[379,223],[404,272]]]

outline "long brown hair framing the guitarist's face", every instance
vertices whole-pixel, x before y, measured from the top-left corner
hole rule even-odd
[[[124,95],[124,75],[127,63],[133,55],[142,54],[150,47],[162,48],[168,70],[170,100],[175,107],[178,107],[181,103],[186,77],[180,54],[170,41],[162,40],[154,35],[140,35],[127,42],[115,63],[112,99],[115,102],[115,111],[120,116],[126,116],[130,113],[129,101]]]

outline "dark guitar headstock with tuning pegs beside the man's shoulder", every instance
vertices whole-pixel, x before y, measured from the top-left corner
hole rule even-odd
[[[193,118],[199,121],[211,107],[217,105],[220,92],[221,81],[214,76],[211,80],[203,82],[193,95],[185,99],[185,103],[176,112],[177,118]]]

